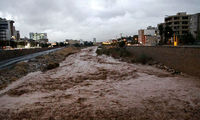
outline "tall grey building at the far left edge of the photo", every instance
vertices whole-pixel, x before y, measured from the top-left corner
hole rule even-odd
[[[0,40],[16,40],[17,35],[19,32],[15,30],[14,21],[0,18]]]

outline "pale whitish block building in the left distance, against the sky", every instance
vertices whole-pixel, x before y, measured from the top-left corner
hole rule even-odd
[[[48,38],[47,38],[47,33],[29,33],[30,39],[35,40],[40,43],[47,43]]]

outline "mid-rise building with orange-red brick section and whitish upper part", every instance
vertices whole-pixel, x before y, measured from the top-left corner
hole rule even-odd
[[[145,46],[154,46],[158,44],[158,29],[156,27],[147,27],[147,29],[138,30],[138,42]]]

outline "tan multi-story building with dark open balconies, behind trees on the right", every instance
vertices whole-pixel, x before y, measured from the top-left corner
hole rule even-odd
[[[165,25],[172,28],[176,35],[189,33],[190,17],[186,12],[177,13],[176,15],[165,18]]]

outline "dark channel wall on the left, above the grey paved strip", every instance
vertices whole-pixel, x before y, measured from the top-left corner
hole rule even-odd
[[[49,50],[52,48],[35,48],[35,49],[22,49],[22,50],[1,50],[0,51],[0,61],[7,60],[10,58],[15,58],[23,55],[28,55],[36,52],[41,52]]]

